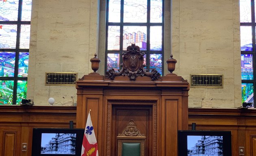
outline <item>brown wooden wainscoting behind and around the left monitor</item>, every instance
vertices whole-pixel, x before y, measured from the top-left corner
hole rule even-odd
[[[0,155],[31,156],[33,128],[69,128],[69,121],[76,127],[76,107],[0,106]]]

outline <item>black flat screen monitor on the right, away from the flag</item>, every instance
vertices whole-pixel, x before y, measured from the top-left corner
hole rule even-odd
[[[178,131],[178,156],[232,156],[230,131]]]

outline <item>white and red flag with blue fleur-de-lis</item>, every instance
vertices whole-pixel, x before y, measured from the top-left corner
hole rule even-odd
[[[98,143],[91,123],[90,112],[86,121],[81,156],[98,156]]]

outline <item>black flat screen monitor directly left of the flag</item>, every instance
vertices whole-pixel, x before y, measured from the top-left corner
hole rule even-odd
[[[32,156],[81,156],[85,129],[33,128]]]

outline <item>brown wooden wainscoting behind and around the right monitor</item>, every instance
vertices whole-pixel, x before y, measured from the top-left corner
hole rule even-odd
[[[256,109],[189,108],[189,129],[229,130],[232,133],[232,156],[252,156],[256,136]],[[244,153],[239,153],[239,147]],[[243,155],[244,154],[244,155]]]

